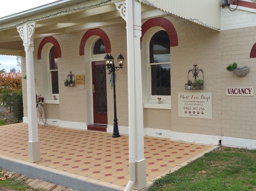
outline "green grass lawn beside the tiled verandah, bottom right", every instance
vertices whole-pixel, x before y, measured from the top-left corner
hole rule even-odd
[[[199,173],[206,171],[207,173]],[[156,180],[148,191],[256,191],[256,150],[219,148]]]

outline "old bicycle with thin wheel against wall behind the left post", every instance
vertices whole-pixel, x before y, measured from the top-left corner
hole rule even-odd
[[[44,98],[40,97],[41,95],[36,95],[36,116],[37,124],[40,127],[46,126],[46,110],[44,108]]]

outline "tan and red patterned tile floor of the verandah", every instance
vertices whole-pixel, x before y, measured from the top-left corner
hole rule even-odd
[[[38,166],[94,183],[124,189],[129,179],[128,136],[47,126],[38,128],[41,161]],[[27,161],[27,124],[0,127],[0,155]],[[144,138],[148,185],[171,169],[214,148],[210,145]],[[1,157],[1,156],[0,156]]]

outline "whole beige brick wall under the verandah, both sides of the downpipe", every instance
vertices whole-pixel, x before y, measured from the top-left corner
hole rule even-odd
[[[168,19],[171,19],[167,17]],[[220,32],[205,32],[204,30],[187,28],[186,25],[171,20],[178,33],[179,46],[171,47],[171,78],[172,78],[172,110],[145,109],[144,127],[172,130],[174,132],[186,132],[193,134],[207,134],[220,136],[221,133],[221,34]],[[117,57],[120,53],[126,54],[126,28],[125,24],[111,27],[103,27],[110,39],[112,55]],[[60,105],[51,104],[46,108],[54,112],[48,112],[48,118],[57,118],[62,121],[84,122],[88,121],[88,109],[86,101],[86,88],[91,91],[91,84],[85,82],[85,89],[76,87],[64,87],[69,71],[74,75],[88,75],[86,58],[90,56],[89,50],[85,50],[85,56],[79,56],[79,45],[85,31],[66,33],[54,36],[60,44],[62,57],[58,58]],[[42,49],[42,59],[37,60],[37,51],[42,39],[34,40],[34,66],[36,93],[43,93],[45,76],[42,70],[47,63],[48,50]],[[122,42],[122,43],[120,43]],[[178,93],[189,92],[184,90],[187,81],[188,70],[197,63],[204,70],[204,90],[190,90],[190,92],[212,92],[213,94],[213,118],[195,119],[178,117]],[[25,70],[22,63],[22,72]],[[110,75],[107,74],[107,100],[108,100],[108,124],[113,122],[113,90],[108,84]],[[128,126],[128,94],[127,94],[127,60],[124,69],[116,75],[118,124]],[[24,91],[26,85],[24,84]],[[24,96],[26,93],[24,93]],[[25,103],[26,104],[26,103]],[[59,111],[59,114],[57,112]],[[164,119],[164,120],[161,120]],[[158,121],[161,121],[160,123]]]

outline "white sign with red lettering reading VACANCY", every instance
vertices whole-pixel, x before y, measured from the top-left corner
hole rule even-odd
[[[253,87],[227,87],[226,88],[227,96],[253,96],[254,88]]]

